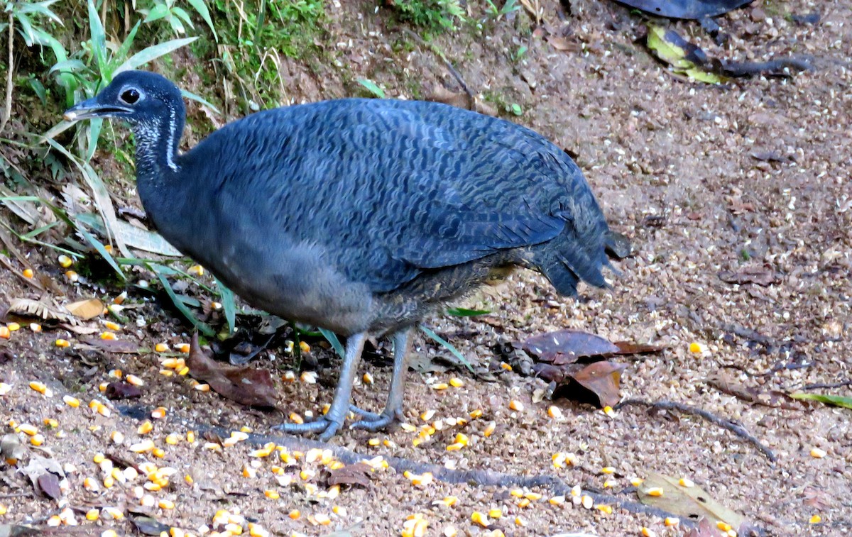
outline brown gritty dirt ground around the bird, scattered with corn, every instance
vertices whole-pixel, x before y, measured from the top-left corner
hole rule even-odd
[[[471,10],[481,18],[479,4],[472,3]],[[227,431],[249,427],[265,435],[283,418],[240,407],[213,391],[195,390],[179,374],[160,374],[164,358],[181,356],[176,345],[189,340],[188,329],[168,300],[152,300],[131,287],[126,302],[131,307],[124,310],[129,323],[118,330],[118,340],[147,349],[167,343],[169,352],[102,351],[83,345],[82,335],[48,323],[41,333],[25,323],[0,342],[0,380],[11,388],[2,396],[0,420],[9,423],[6,432],[14,424],[31,424],[44,437],[37,448],[20,433],[19,465],[2,468],[0,504],[7,512],[0,522],[33,523],[51,534],[101,534],[107,528],[138,534],[128,517],[130,511],[144,511],[170,527],[202,534],[204,528],[224,531],[230,513],[230,522],[245,534],[253,522],[278,535],[400,535],[406,517],[419,514],[428,521],[428,535],[452,535],[451,527],[458,535],[498,534],[494,529],[515,536],[639,535],[643,527],[657,535],[683,534],[687,520],[680,527],[666,527],[659,514],[636,506],[630,478],[660,472],[688,477],[766,535],[848,534],[850,411],[800,404],[775,392],[852,394],[849,4],[799,0],[736,11],[721,19],[731,36],[722,48],[695,23],[671,23],[708,54],[722,58],[809,54],[815,59],[814,71],[789,78],[752,77],[725,88],[676,77],[653,60],[636,42],[642,18],[629,9],[593,0],[570,5],[568,14],[559,3],[541,2],[543,22],[532,35],[533,18],[520,12],[486,22],[484,36],[458,31],[435,43],[482,106],[502,113],[505,104],[519,104],[523,114],[514,121],[577,155],[607,219],[630,237],[635,254],[617,263],[621,275],[611,276],[610,290],[582,288],[579,300],[566,300],[543,277],[521,271],[460,305],[481,307],[490,315],[438,316],[427,325],[479,366],[500,360],[493,349],[499,341],[561,328],[666,346],[660,353],[617,359],[627,366],[622,397],[684,403],[735,420],[774,453],[774,463],[753,443],[697,415],[653,412],[640,405],[607,416],[589,404],[541,400],[546,383],[517,372],[498,368],[496,380],[489,382],[464,368],[435,366],[429,373],[409,375],[406,418],[419,428],[425,423],[420,414],[434,410],[429,423],[440,420],[440,430],[417,446],[412,444],[417,431],[343,431],[330,446],[320,446],[333,448],[336,459],[400,460],[389,468],[376,464],[376,471],[360,479],[365,483],[344,484],[337,494],[327,481],[331,453],[308,452],[314,445],[309,440],[276,437],[277,445],[289,446],[285,453],[290,457],[279,451],[259,457],[252,453],[259,446],[250,441],[222,448],[222,437],[204,434],[216,426]],[[813,25],[786,16],[815,10],[820,20]],[[318,74],[297,60],[283,60],[292,100],[352,94],[359,87],[351,81],[369,77],[389,96],[455,95],[464,102],[463,89],[443,60],[390,24],[386,9],[377,10],[371,2],[334,2],[327,11],[327,52],[339,66]],[[521,45],[528,47],[526,54],[511,60]],[[209,121],[194,103],[189,106],[191,122]],[[210,124],[193,128],[205,129]],[[197,140],[194,134],[191,138]],[[19,221],[15,226],[22,225]],[[55,252],[24,243],[17,248],[55,285],[40,291],[10,273],[0,283],[6,304],[17,298],[108,301],[124,290],[66,283]],[[760,282],[730,282],[749,275]],[[134,283],[138,278],[151,275],[131,275]],[[187,292],[204,297],[199,289]],[[105,329],[102,321],[99,317],[83,326],[100,332]],[[57,338],[71,346],[57,349]],[[262,352],[253,363],[273,370],[276,379],[295,369],[296,381],[279,381],[279,406],[285,414],[316,414],[331,401],[336,381],[331,366],[336,362],[320,340],[309,343],[309,359],[301,363],[282,346]],[[701,346],[698,353],[689,350],[692,343]],[[423,334],[413,352],[421,366],[450,356]],[[323,365],[319,382],[299,380],[300,364],[304,369]],[[356,386],[356,403],[382,407],[390,366],[389,344],[380,341],[362,365],[375,381]],[[112,402],[101,394],[98,386],[115,380],[113,369],[141,378],[141,398]],[[461,378],[463,386],[433,389],[452,377]],[[52,396],[32,390],[28,384],[33,380],[47,385]],[[746,397],[750,393],[751,401]],[[78,397],[80,407],[63,403],[66,395]],[[90,410],[91,400],[105,403],[111,414]],[[510,409],[510,400],[523,403],[522,409]],[[548,415],[551,404],[561,409],[562,420]],[[166,413],[151,420],[153,431],[138,432],[161,406]],[[477,409],[481,417],[471,419]],[[453,418],[468,421],[453,426]],[[49,419],[56,420],[55,427],[45,424]],[[496,427],[486,436],[490,422]],[[124,438],[117,442],[114,431]],[[187,441],[189,431],[196,433],[193,442]],[[469,437],[469,444],[447,450],[458,432]],[[171,433],[174,444],[167,442]],[[130,450],[146,440],[162,449],[162,458]],[[814,448],[825,456],[815,457]],[[149,490],[158,488],[151,484],[140,488],[156,479],[133,477],[132,471],[129,479],[124,472],[107,488],[109,468],[105,472],[93,461],[98,453],[114,455],[118,468],[131,465],[142,473],[147,469],[142,463],[153,463],[175,472],[160,490]],[[556,453],[574,454],[575,464],[556,468]],[[45,456],[65,466],[60,500],[34,492],[19,471]],[[450,482],[455,477],[456,483],[429,483],[428,477],[414,483],[402,470],[412,467],[417,474],[429,469],[418,464],[444,467],[444,477]],[[602,473],[605,466],[614,473]],[[39,473],[43,471],[35,475]],[[527,502],[512,494],[519,485],[481,483],[486,477],[499,481],[501,474],[504,483],[544,483],[522,491],[543,497],[533,495],[528,506],[521,506]],[[564,486],[536,481],[539,476],[556,476]],[[96,491],[84,486],[89,477],[97,483]],[[595,503],[611,506],[612,512],[574,506],[569,492],[574,485],[583,494],[600,494]],[[279,498],[265,491],[276,491]],[[146,494],[143,501],[141,493]],[[564,504],[550,503],[560,494],[568,496]],[[443,505],[440,500],[447,496],[458,501]],[[170,500],[174,508],[158,506],[160,500]],[[142,506],[144,502],[154,505]],[[73,509],[79,525],[48,529],[50,517],[64,506]],[[105,507],[118,509],[124,518],[111,520]],[[89,522],[85,513],[93,508],[102,510],[100,519]],[[490,528],[472,522],[474,511],[492,509],[501,510],[502,517],[489,518]],[[219,510],[227,513],[215,519]],[[811,520],[815,515],[820,523]],[[722,533],[714,529],[705,534]]]

